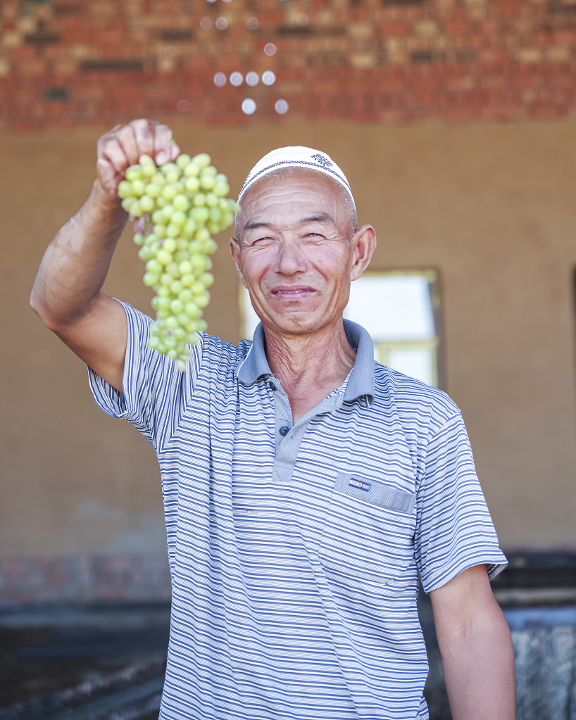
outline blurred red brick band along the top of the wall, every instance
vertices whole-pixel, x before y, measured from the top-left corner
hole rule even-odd
[[[314,119],[556,117],[576,100],[575,40],[575,0],[3,0],[0,127],[240,125],[279,118],[279,99]]]

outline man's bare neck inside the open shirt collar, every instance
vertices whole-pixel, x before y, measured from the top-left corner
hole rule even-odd
[[[336,390],[354,366],[356,351],[342,321],[307,336],[282,336],[264,328],[266,357],[288,395],[294,423]]]

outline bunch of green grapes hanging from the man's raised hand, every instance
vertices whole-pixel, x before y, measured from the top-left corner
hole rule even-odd
[[[141,218],[143,233],[136,233],[134,242],[146,264],[144,284],[156,292],[156,324],[150,327],[148,347],[181,370],[189,359],[186,346],[207,327],[202,311],[210,301],[210,255],[217,249],[211,236],[232,225],[240,210],[225,197],[229,191],[226,176],[217,173],[205,153],[180,155],[159,167],[143,155],[118,185],[122,207]]]

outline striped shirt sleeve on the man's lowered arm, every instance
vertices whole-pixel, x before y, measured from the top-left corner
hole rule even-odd
[[[431,438],[417,499],[415,557],[426,593],[486,564],[490,580],[508,564],[485,502],[462,415]]]

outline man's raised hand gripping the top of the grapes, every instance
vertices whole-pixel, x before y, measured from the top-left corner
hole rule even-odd
[[[111,199],[116,199],[118,183],[124,179],[127,168],[138,163],[141,155],[149,155],[156,165],[163,165],[180,154],[178,145],[172,143],[170,128],[145,119],[116,125],[102,135],[96,150],[96,182]]]

